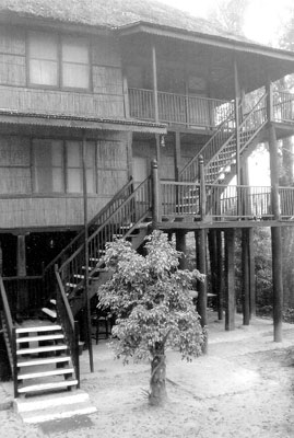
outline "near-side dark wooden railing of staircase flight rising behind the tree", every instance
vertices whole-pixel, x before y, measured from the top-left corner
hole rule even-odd
[[[103,263],[105,243],[113,242],[118,237],[127,238],[136,224],[149,214],[151,207],[151,178],[148,177],[103,222],[92,222],[90,228],[92,233],[87,239],[89,264],[92,267],[89,277],[92,277]],[[82,244],[59,266],[58,272],[63,285],[70,285],[68,289],[66,287],[66,291],[73,289],[75,293],[80,287],[83,287],[84,255]]]

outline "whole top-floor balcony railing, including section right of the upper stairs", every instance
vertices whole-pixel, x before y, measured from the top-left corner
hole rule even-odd
[[[294,94],[287,91],[270,91],[271,119],[277,123],[294,123]],[[155,104],[155,99],[156,104]],[[234,101],[210,99],[196,95],[166,93],[153,90],[129,89],[130,116],[143,120],[157,120],[168,125],[180,125],[195,129],[215,130],[223,122],[230,123],[230,129],[235,129]],[[249,107],[252,104],[249,103]],[[256,117],[266,111],[256,111]],[[246,105],[245,105],[246,107]],[[157,110],[156,110],[157,108]],[[243,114],[242,117],[245,117]],[[240,119],[242,120],[242,119]]]

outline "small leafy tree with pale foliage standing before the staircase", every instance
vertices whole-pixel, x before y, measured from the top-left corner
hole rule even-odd
[[[201,354],[204,334],[190,290],[203,275],[178,269],[180,253],[160,231],[146,238],[145,250],[144,257],[124,240],[108,243],[105,264],[113,276],[98,297],[99,307],[110,308],[117,318],[116,357],[124,362],[151,359],[149,401],[156,405],[166,397],[166,347],[179,349],[187,360]]]

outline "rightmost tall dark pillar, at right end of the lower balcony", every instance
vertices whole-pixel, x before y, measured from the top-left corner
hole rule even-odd
[[[279,204],[279,157],[274,126],[269,123],[269,150],[271,171],[271,205],[275,220],[280,219]],[[272,286],[273,286],[273,339],[282,342],[282,312],[283,312],[283,264],[281,228],[271,228],[272,246]]]

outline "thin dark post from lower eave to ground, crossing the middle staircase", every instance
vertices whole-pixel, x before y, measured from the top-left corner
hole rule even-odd
[[[89,348],[90,370],[94,372],[93,362],[93,348],[92,348],[92,327],[91,327],[91,304],[90,304],[90,290],[89,290],[89,245],[87,245],[87,187],[86,187],[86,136],[83,131],[82,141],[82,162],[83,162],[83,204],[84,204],[84,293],[85,293],[85,309],[86,309],[86,344]]]

